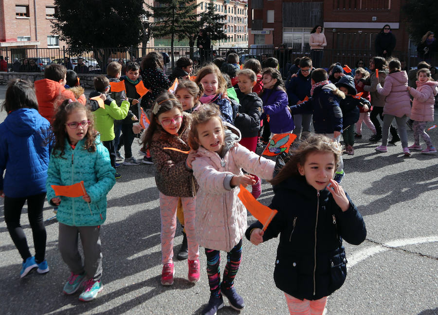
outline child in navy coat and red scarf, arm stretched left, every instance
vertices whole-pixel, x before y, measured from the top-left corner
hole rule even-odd
[[[334,84],[329,84],[327,71],[322,68],[313,70],[311,83],[310,100],[291,106],[291,113],[292,115],[303,112],[312,113],[315,133],[325,134],[332,140],[339,142],[343,129],[339,101],[345,98],[345,94]],[[344,175],[344,163],[341,156],[334,180],[341,183]]]

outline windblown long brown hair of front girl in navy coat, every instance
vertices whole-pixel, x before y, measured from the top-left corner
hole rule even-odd
[[[310,134],[310,136],[301,142],[300,146],[293,151],[289,161],[271,180],[272,185],[278,185],[292,176],[300,176],[298,166],[304,166],[307,156],[313,152],[332,152],[335,158],[336,166],[342,154],[341,145],[333,139],[323,134]]]

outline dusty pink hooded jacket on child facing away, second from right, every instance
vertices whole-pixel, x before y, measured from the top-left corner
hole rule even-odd
[[[406,90],[408,77],[406,71],[396,71],[389,73],[382,86],[377,84],[377,93],[386,96],[383,115],[394,115],[402,117],[411,114],[411,98]]]

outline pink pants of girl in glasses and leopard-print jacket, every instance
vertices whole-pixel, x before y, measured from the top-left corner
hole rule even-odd
[[[173,261],[173,238],[176,230],[176,212],[180,197],[166,196],[160,192],[161,214],[161,262]],[[182,197],[184,213],[184,229],[187,235],[188,259],[199,258],[199,244],[195,236],[196,197]]]

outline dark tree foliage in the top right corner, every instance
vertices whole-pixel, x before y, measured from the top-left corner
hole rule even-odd
[[[437,0],[407,0],[402,6],[402,16],[411,39],[417,43],[427,31],[438,32]]]

